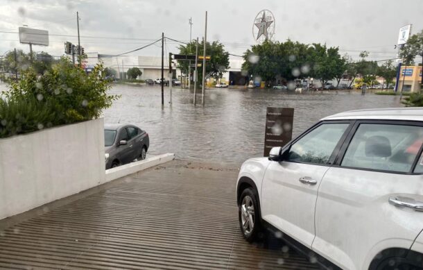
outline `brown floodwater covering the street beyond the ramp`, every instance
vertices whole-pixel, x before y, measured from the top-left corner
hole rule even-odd
[[[150,136],[148,154],[175,153],[176,158],[241,163],[263,155],[267,107],[295,108],[293,137],[328,115],[345,110],[399,107],[399,96],[356,92],[287,93],[282,90],[206,90],[205,107],[193,106],[193,90],[159,86],[113,85],[121,94],[103,112],[104,121],[130,123]],[[198,103],[201,96],[198,94]]]

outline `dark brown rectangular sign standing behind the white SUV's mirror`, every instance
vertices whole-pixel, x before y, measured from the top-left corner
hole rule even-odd
[[[264,133],[264,156],[268,157],[270,149],[284,146],[291,141],[294,108],[268,107],[266,111],[266,131]]]

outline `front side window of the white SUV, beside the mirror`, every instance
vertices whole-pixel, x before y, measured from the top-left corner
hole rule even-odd
[[[349,124],[322,124],[295,142],[288,161],[326,164]]]

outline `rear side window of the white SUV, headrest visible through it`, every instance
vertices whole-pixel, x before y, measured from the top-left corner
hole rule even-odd
[[[361,124],[341,166],[408,172],[423,142],[423,127]]]

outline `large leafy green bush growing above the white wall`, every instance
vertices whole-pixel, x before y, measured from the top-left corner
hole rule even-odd
[[[62,58],[42,75],[33,67],[28,68],[19,82],[10,82],[9,91],[3,92],[6,99],[0,103],[1,134],[28,133],[34,130],[35,124],[39,128],[100,117],[102,110],[112,106],[112,101],[119,97],[107,94],[110,83],[103,71],[103,65],[98,64],[92,73],[86,74],[69,58]],[[29,110],[33,111],[33,118],[29,117]],[[10,121],[23,115],[32,124],[23,125],[22,119]]]

